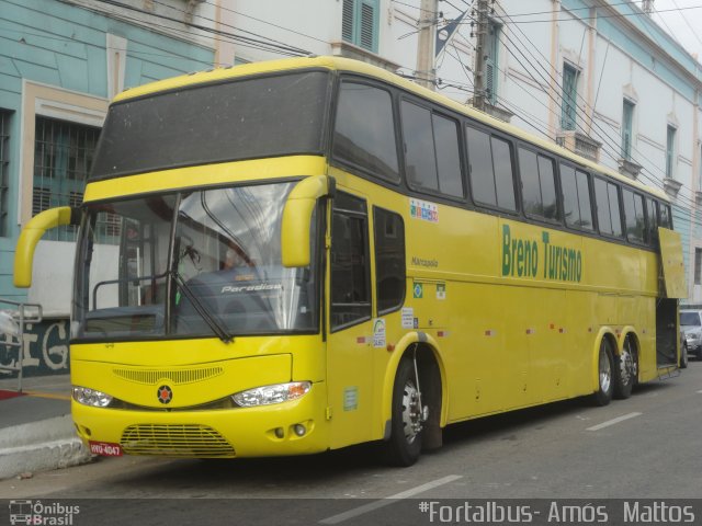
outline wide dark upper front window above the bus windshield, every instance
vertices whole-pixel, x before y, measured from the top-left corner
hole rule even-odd
[[[113,104],[91,179],[322,151],[329,75],[200,84]]]

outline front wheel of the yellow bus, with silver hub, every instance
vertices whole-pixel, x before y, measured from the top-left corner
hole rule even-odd
[[[415,377],[415,363],[403,358],[393,387],[390,438],[386,443],[387,461],[392,466],[414,465],[421,454],[421,409]]]

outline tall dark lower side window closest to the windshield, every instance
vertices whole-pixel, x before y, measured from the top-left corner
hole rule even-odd
[[[365,201],[342,192],[331,218],[331,329],[371,318]]]

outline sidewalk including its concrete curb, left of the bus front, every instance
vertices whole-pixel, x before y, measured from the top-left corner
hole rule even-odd
[[[70,418],[70,375],[0,379],[0,480],[89,461]]]

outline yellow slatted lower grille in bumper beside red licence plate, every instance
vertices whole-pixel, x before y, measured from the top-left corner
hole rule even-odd
[[[200,424],[138,424],[122,434],[128,455],[165,457],[235,457],[234,447],[217,432]]]

